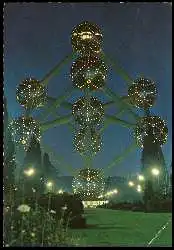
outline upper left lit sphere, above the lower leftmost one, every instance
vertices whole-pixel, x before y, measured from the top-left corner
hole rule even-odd
[[[46,102],[45,87],[34,78],[27,78],[19,84],[16,99],[26,109],[43,106]]]

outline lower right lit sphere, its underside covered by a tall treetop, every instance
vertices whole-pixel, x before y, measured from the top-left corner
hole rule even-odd
[[[168,128],[164,120],[158,116],[142,117],[135,128],[137,144],[143,147],[144,138],[152,136],[153,143],[164,144],[167,141]]]

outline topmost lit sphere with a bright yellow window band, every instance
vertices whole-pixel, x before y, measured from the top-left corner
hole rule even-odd
[[[99,54],[102,45],[101,30],[96,24],[85,21],[73,29],[71,43],[73,50],[81,55]]]

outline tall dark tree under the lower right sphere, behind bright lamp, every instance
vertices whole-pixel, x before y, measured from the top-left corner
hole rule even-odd
[[[144,184],[144,203],[146,210],[152,209],[153,204],[159,202],[160,199],[164,197],[166,191],[164,155],[161,146],[157,142],[154,143],[154,140],[153,128],[149,126],[148,135],[144,136],[142,151],[142,172],[146,179]],[[151,169],[156,166],[160,171],[160,175],[154,178]]]

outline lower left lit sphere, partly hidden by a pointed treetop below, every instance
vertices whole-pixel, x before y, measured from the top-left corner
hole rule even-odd
[[[32,137],[38,141],[41,139],[40,125],[32,117],[19,117],[13,120],[9,126],[14,142],[22,145],[27,151]]]

